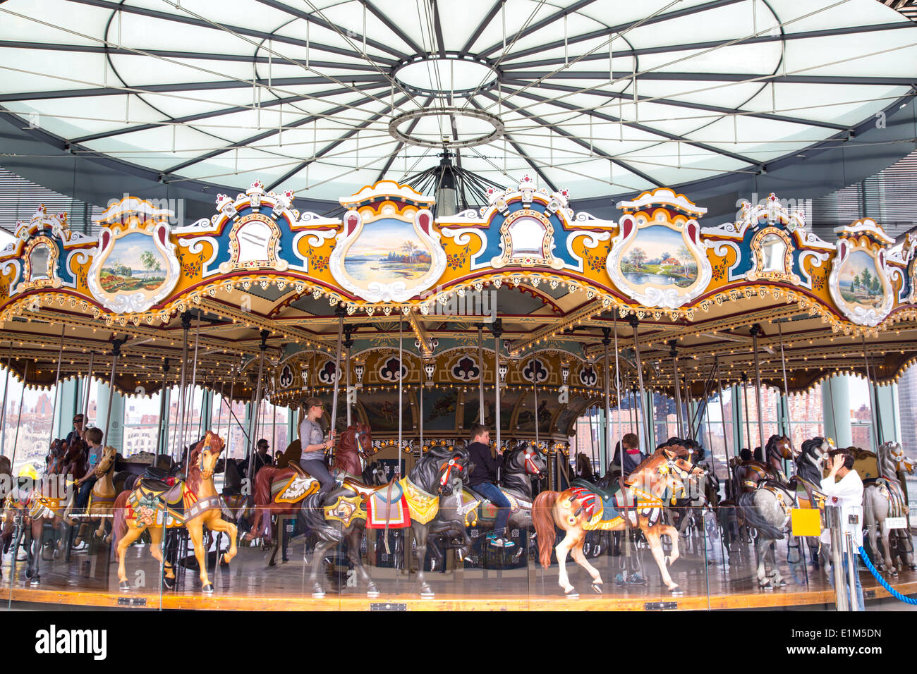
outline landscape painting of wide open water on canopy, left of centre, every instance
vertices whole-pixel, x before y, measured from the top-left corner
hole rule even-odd
[[[344,270],[361,285],[419,279],[432,264],[414,225],[393,218],[364,225],[344,257]]]

